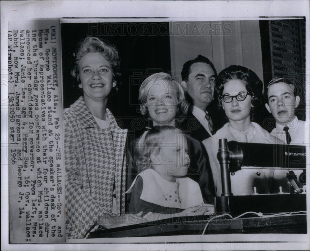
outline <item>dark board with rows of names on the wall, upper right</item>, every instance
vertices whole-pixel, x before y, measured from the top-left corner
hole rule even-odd
[[[306,67],[305,19],[259,21],[264,83],[301,74]],[[265,86],[266,88],[267,86]]]

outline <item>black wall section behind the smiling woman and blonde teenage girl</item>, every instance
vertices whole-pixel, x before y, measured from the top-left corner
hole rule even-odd
[[[143,129],[145,122],[138,111],[139,86],[153,73],[171,71],[169,23],[61,24],[64,108],[80,96],[78,90],[73,90],[70,71],[78,42],[86,36],[104,38],[117,46],[122,85],[118,94],[109,99],[108,108],[119,118],[121,127]]]

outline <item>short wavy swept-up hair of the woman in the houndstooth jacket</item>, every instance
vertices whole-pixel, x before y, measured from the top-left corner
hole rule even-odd
[[[71,76],[73,77],[74,87],[78,87],[81,83],[79,76],[79,63],[83,56],[87,53],[100,53],[112,66],[113,69],[113,81],[116,86],[112,89],[111,95],[116,94],[120,81],[120,59],[118,57],[117,47],[109,42],[108,40],[101,39],[99,37],[86,37],[81,40],[78,45],[76,53],[73,54],[75,57],[74,66],[71,70]]]

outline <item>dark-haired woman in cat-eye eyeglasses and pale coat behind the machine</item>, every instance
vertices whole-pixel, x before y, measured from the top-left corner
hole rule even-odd
[[[260,116],[264,109],[263,82],[250,69],[240,65],[231,65],[221,71],[215,81],[214,99],[217,100],[220,109],[224,111],[229,122],[202,143],[209,155],[217,196],[221,196],[221,173],[219,161],[217,160],[219,139],[224,138],[228,142],[233,140],[271,144],[283,144],[283,141],[271,136],[259,124],[253,122],[257,121],[256,118]],[[250,182],[242,180],[242,172],[238,171],[235,175],[230,176],[232,188],[236,187],[234,183]],[[253,187],[251,186],[237,185],[237,187],[240,187],[240,190],[235,189],[232,191],[234,195],[253,193]],[[247,189],[248,191],[246,191]]]

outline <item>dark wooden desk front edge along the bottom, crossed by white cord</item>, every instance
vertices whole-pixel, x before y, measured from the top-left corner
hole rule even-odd
[[[200,218],[200,219],[199,219]],[[172,218],[162,222],[148,222],[91,232],[89,238],[119,238],[145,236],[201,235],[209,216]],[[160,224],[162,223],[162,224]],[[279,233],[306,234],[306,215],[252,217],[238,219],[215,218],[210,221],[205,234]]]

